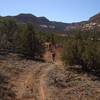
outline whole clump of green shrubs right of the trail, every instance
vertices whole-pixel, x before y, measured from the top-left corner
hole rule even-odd
[[[100,69],[100,41],[82,35],[69,38],[64,44],[62,59],[65,65],[81,65],[84,70]]]

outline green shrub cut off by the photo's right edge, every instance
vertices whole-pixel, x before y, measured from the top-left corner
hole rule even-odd
[[[86,41],[82,53],[83,68],[88,70],[100,69],[100,47],[99,41]]]

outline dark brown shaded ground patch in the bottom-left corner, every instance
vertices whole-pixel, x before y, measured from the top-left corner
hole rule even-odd
[[[15,100],[16,94],[8,81],[9,77],[0,72],[0,100]]]

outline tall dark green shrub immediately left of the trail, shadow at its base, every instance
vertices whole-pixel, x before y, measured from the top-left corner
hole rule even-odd
[[[17,35],[17,52],[27,57],[40,57],[44,53],[44,46],[41,40],[36,37],[32,24],[27,24],[19,29]]]

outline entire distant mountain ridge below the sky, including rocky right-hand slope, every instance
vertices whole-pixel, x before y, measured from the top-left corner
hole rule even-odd
[[[32,23],[35,29],[46,31],[46,32],[56,32],[56,33],[66,33],[68,30],[80,28],[82,24],[84,27],[92,27],[91,25],[100,24],[100,13],[91,17],[88,21],[77,22],[77,23],[63,23],[50,21],[46,17],[37,17],[32,14],[19,14],[16,16],[5,16],[0,18],[10,18],[15,19],[18,23]]]

